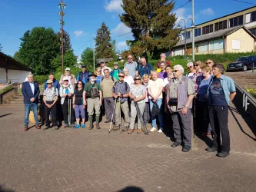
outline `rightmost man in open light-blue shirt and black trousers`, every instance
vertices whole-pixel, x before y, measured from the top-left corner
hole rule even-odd
[[[218,157],[227,157],[230,151],[228,131],[228,105],[236,94],[234,81],[224,74],[224,66],[212,66],[214,77],[208,88],[209,116],[211,129],[214,134],[213,145],[206,151],[218,151]],[[222,144],[221,144],[222,141]]]

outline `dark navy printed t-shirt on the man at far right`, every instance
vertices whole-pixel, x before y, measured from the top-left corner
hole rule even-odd
[[[213,78],[209,88],[209,96],[209,101],[212,105],[228,105],[228,102],[225,99],[224,90],[221,86],[221,80],[219,78]]]

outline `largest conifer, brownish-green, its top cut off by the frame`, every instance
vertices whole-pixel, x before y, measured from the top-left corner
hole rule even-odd
[[[155,49],[167,51],[177,44],[179,30],[173,29],[177,18],[171,13],[174,6],[168,0],[123,0],[125,13],[119,17],[131,28],[135,41],[130,46],[136,46],[137,55],[141,56],[142,49],[151,58]]]

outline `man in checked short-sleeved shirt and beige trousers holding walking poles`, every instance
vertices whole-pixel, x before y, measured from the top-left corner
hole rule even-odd
[[[115,87],[112,89],[113,97],[115,98],[116,106],[115,106],[115,126],[119,127],[121,124],[120,114],[121,110],[125,115],[125,127],[123,131],[127,131],[129,127],[129,107],[128,107],[128,97],[130,92],[130,87],[128,83],[124,81],[125,73],[120,72],[118,81],[115,83]]]

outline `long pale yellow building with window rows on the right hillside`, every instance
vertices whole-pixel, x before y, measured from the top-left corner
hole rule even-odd
[[[194,29],[195,54],[254,51],[256,36],[256,6],[196,25]],[[186,38],[186,39],[185,39]],[[178,44],[171,56],[192,54],[192,29],[181,31]]]

